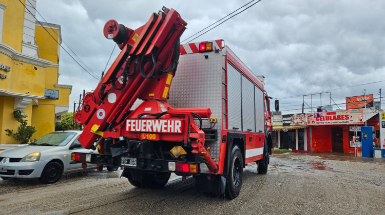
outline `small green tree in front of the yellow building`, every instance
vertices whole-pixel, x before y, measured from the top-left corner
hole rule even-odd
[[[24,118],[27,118],[27,115],[24,115],[24,112],[21,110],[13,111],[13,116],[17,119],[17,122],[20,123],[20,125],[17,127],[17,132],[13,132],[13,130],[6,129],[4,130],[7,132],[7,136],[15,138],[20,144],[27,144],[33,133],[36,132],[35,127],[31,125],[27,125],[27,121]]]

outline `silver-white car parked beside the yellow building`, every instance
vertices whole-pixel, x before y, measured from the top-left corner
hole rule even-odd
[[[85,170],[82,163],[71,161],[72,152],[97,153],[85,149],[78,141],[81,131],[49,133],[28,145],[0,152],[0,178],[38,178],[42,183],[57,182],[62,174]],[[87,164],[86,169],[96,165]],[[108,166],[107,170],[116,170]]]

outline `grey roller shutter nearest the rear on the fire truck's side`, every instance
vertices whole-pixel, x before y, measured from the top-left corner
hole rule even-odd
[[[228,130],[242,129],[241,73],[227,64],[227,123]]]

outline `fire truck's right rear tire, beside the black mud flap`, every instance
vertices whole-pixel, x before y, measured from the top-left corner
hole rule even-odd
[[[241,191],[243,180],[243,157],[238,145],[235,145],[232,149],[229,164],[225,197],[235,199]]]

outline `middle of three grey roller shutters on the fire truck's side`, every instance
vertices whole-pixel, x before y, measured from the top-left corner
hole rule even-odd
[[[255,132],[254,83],[242,76],[242,131]]]

